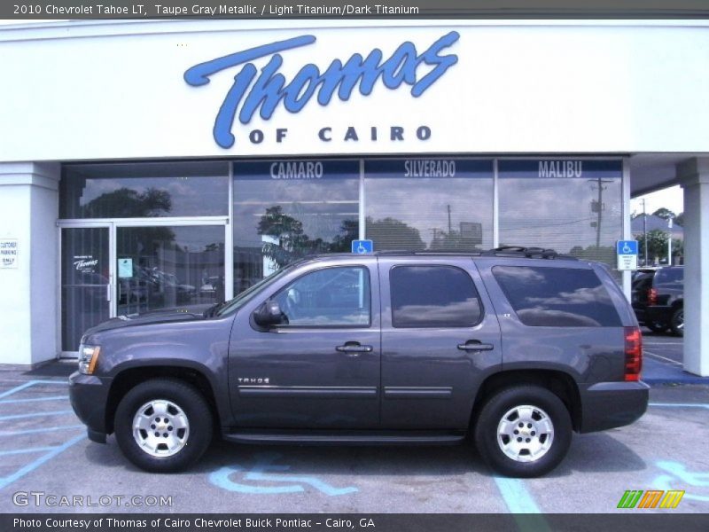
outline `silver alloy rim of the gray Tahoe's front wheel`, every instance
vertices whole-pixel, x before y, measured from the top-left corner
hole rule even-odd
[[[190,436],[190,421],[172,401],[145,403],[133,418],[133,438],[152,457],[171,457],[183,449]]]

